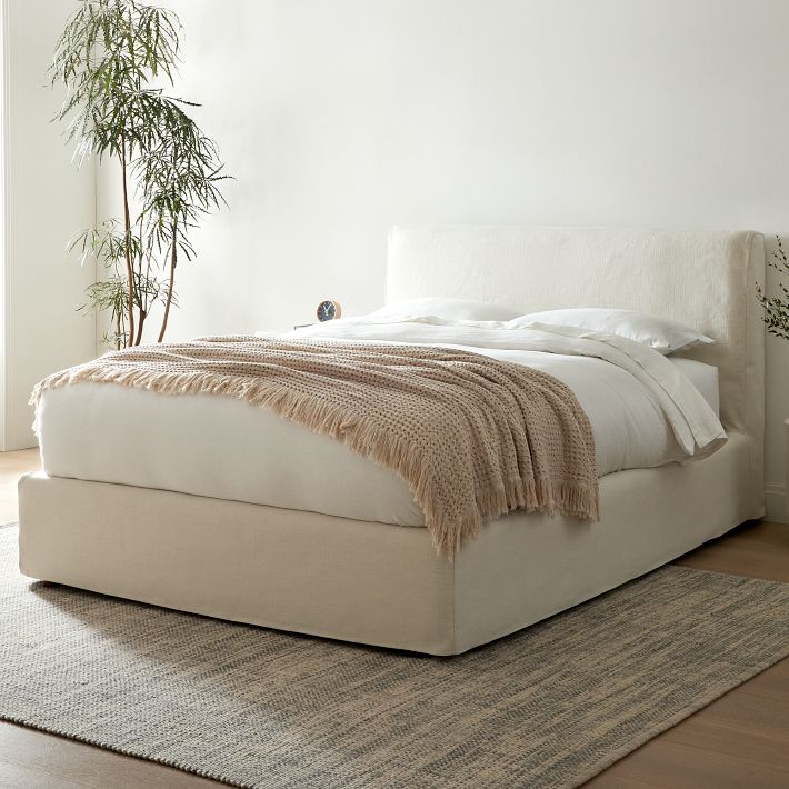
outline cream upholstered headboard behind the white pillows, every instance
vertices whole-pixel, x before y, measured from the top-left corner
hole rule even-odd
[[[719,369],[721,419],[751,439],[761,469],[765,332],[755,283],[763,272],[756,232],[396,227],[386,298],[481,299],[523,312],[619,307],[688,323],[716,340],[687,356]]]

